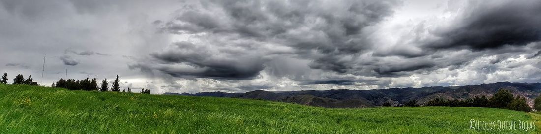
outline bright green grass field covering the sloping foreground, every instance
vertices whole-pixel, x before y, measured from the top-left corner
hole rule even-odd
[[[0,85],[0,133],[539,133],[539,127],[469,128],[470,119],[539,117],[487,108],[324,109],[250,99]]]

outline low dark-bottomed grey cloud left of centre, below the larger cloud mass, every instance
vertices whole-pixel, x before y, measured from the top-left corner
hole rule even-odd
[[[179,42],[173,48],[151,53],[151,57],[161,62],[159,65],[132,65],[131,68],[156,69],[175,77],[209,77],[247,79],[259,74],[263,61],[248,53],[213,53],[212,48],[201,44]],[[223,50],[222,52],[225,52]]]

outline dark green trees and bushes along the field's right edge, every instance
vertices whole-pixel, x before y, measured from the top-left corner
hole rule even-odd
[[[535,110],[541,110],[541,95],[536,98],[534,107]],[[382,106],[391,106],[391,103],[385,102]],[[415,99],[405,103],[403,106],[420,106]],[[480,108],[497,108],[514,111],[530,112],[532,109],[526,103],[526,98],[517,95],[513,96],[511,91],[500,89],[494,93],[492,97],[476,96],[466,99],[444,99],[434,98],[427,101],[423,106],[462,106],[462,107],[480,107]]]

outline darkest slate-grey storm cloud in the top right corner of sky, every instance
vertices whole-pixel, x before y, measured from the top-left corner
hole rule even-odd
[[[471,8],[459,24],[440,31],[440,39],[426,46],[483,50],[541,41],[541,1],[490,1]]]

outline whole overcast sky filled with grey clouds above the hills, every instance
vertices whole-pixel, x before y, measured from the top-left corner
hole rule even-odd
[[[0,72],[45,86],[119,75],[155,94],[539,83],[540,12],[538,0],[0,0]]]

